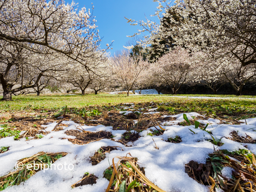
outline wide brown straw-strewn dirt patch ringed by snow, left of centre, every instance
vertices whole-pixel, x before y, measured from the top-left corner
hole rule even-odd
[[[89,131],[78,131],[78,130],[68,130],[65,132],[67,135],[75,136],[76,139],[69,139],[73,144],[84,145],[93,141],[99,141],[101,139],[111,139],[114,136],[111,132],[99,131],[99,132],[89,132]],[[67,138],[63,138],[67,139]]]

